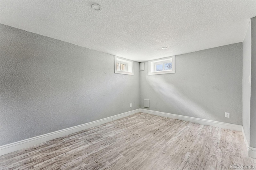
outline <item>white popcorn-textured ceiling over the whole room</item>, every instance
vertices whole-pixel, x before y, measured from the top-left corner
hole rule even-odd
[[[1,24],[139,62],[242,42],[256,16],[255,0],[1,0],[0,8]]]

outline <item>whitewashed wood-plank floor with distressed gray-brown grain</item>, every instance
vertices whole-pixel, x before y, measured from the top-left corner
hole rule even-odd
[[[137,113],[0,156],[0,169],[222,170],[256,165],[242,132]]]

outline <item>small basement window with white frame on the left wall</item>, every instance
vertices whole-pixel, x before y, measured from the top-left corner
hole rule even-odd
[[[114,56],[115,73],[117,74],[133,74],[133,61],[122,57]]]

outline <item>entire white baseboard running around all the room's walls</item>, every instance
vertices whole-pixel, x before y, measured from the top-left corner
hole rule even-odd
[[[114,120],[117,120],[117,119],[120,119],[120,118],[123,118],[123,117],[127,117],[129,115],[133,115],[133,114],[138,113],[138,112],[149,113],[149,114],[152,114],[152,115],[158,115],[158,116],[163,116],[163,117],[170,117],[170,118],[179,119],[179,120],[182,120],[182,121],[190,121],[190,122],[199,123],[199,124],[203,124],[203,125],[226,128],[226,129],[230,129],[230,130],[243,131],[241,125],[234,125],[234,124],[223,123],[223,122],[218,122],[218,121],[210,121],[210,120],[206,120],[206,119],[199,119],[199,118],[182,116],[182,115],[174,115],[174,114],[171,114],[171,113],[151,111],[151,110],[147,110],[147,109],[136,109],[136,110],[129,111],[129,112],[126,112],[126,113],[121,113],[119,115],[115,115],[115,116],[107,117],[107,118],[104,118],[104,119],[100,119],[98,121],[85,123],[83,125],[78,125],[78,126],[75,126],[75,127],[70,127],[70,128],[58,130],[58,131],[51,132],[51,133],[48,133],[48,134],[43,134],[43,135],[40,135],[40,136],[35,136],[33,138],[28,138],[28,139],[25,139],[25,140],[21,140],[21,141],[18,141],[18,142],[14,142],[14,143],[10,143],[10,144],[0,146],[0,156],[4,155],[4,154],[8,154],[10,152],[14,152],[14,151],[17,151],[17,150],[21,150],[21,149],[24,149],[24,148],[31,147],[31,146],[34,146],[36,144],[40,144],[42,142],[46,142],[46,141],[49,141],[49,140],[60,138],[62,136],[66,136],[68,134],[79,132],[79,131],[85,130],[87,128],[96,127],[98,125],[102,125],[104,123],[108,123],[108,122],[111,122],[111,121],[114,121]],[[246,140],[246,138],[245,138],[245,140]],[[246,140],[246,144],[248,144],[247,140]],[[250,157],[255,158],[256,157],[255,156],[256,148],[252,148],[252,147],[247,147],[247,148],[249,148],[249,156],[251,155]]]

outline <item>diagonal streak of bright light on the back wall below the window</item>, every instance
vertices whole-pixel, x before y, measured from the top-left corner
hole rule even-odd
[[[207,115],[210,120],[214,120],[215,116],[212,113],[197,103],[194,103],[194,101],[182,94],[178,88],[170,82],[167,82],[163,77],[157,76],[153,79],[150,78],[147,79],[147,82],[152,89],[157,92],[156,94],[160,95],[161,101],[169,108],[173,108],[173,110],[168,111],[168,113],[197,117],[200,119],[205,119],[202,118],[202,115]]]

